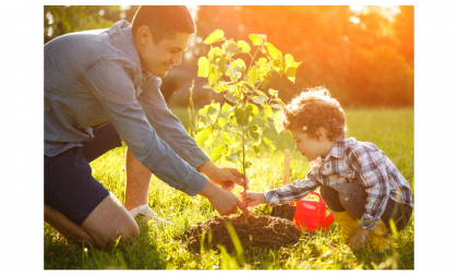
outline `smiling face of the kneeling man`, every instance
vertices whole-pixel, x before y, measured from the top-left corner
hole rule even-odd
[[[164,38],[156,45],[149,33],[149,39],[138,50],[142,71],[148,70],[160,79],[166,77],[173,64],[181,63],[181,56],[188,49],[190,36],[186,33],[176,33],[174,38]]]

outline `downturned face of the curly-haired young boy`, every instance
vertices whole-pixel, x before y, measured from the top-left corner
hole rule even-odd
[[[288,131],[296,141],[294,150],[299,151],[309,162],[315,160],[320,156],[327,156],[334,145],[334,142],[327,138],[323,138],[322,141],[315,140],[300,129]],[[325,133],[325,130],[322,131]]]

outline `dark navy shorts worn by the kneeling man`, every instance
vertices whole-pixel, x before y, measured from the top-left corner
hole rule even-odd
[[[45,156],[45,204],[81,226],[109,192],[92,176],[89,163],[122,145],[110,123],[94,129],[95,136],[83,146],[53,157]]]

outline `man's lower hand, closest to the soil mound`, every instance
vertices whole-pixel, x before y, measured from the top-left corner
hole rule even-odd
[[[238,208],[241,208],[245,216],[251,216],[246,206],[234,194],[219,188],[212,180],[207,181],[207,184],[198,194],[206,196],[221,216],[237,214]]]

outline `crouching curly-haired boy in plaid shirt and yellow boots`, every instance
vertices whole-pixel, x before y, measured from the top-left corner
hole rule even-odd
[[[290,203],[320,187],[351,248],[360,248],[366,238],[378,249],[395,246],[389,219],[398,231],[407,226],[413,208],[410,186],[377,146],[345,139],[345,112],[329,92],[315,87],[293,98],[284,109],[281,127],[311,162],[310,172],[282,188],[241,192],[242,201],[248,206]]]

